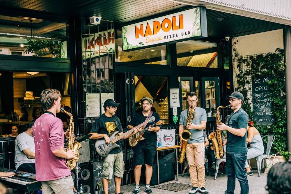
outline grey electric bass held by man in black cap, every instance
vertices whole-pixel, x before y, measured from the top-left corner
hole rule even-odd
[[[151,116],[148,118],[148,120],[144,121],[143,123],[139,124],[138,126],[136,126],[135,128],[141,128],[143,125],[150,123],[152,121],[155,121],[155,117]],[[115,135],[117,133],[120,133],[119,131],[115,131],[110,137],[110,142],[109,144],[105,143],[105,139],[99,139],[96,140],[95,142],[95,149],[97,151],[97,154],[101,157],[106,157],[111,150],[113,150],[116,147],[120,147],[120,145],[117,145],[116,142],[118,140],[121,140],[123,137],[126,137],[127,135],[131,134],[134,131],[134,128],[132,128],[131,130],[128,130],[127,132],[123,133],[122,135],[118,136],[115,138]]]

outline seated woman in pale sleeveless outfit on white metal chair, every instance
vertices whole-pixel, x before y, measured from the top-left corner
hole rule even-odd
[[[250,147],[248,149],[248,153],[246,154],[246,159],[255,158],[264,153],[264,145],[262,137],[259,131],[254,127],[254,122],[249,119],[248,127],[246,128],[248,132],[248,137],[246,138],[246,142],[250,143]],[[251,166],[246,160],[246,176],[250,176],[253,174],[253,170],[251,170]]]

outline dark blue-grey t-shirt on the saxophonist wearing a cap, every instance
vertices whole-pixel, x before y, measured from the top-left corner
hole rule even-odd
[[[226,125],[235,129],[247,128],[249,122],[248,114],[240,108],[237,112],[231,113]],[[246,134],[243,137],[234,135],[227,131],[226,153],[244,154],[248,152],[246,147]]]

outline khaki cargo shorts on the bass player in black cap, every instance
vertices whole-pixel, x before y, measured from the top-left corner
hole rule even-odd
[[[114,175],[116,177],[123,177],[124,174],[124,161],[122,151],[118,154],[109,154],[105,158],[103,158],[103,171],[102,178],[104,179],[112,179],[113,177],[113,168]]]

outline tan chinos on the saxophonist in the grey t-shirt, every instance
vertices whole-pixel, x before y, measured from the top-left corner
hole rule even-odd
[[[186,157],[189,164],[190,179],[193,187],[204,187],[205,184],[205,150],[204,143],[187,144]],[[196,172],[197,167],[197,172]],[[198,176],[197,176],[198,175]]]

